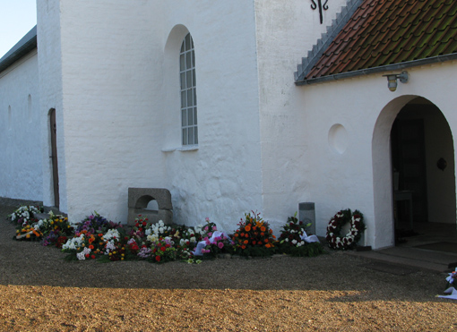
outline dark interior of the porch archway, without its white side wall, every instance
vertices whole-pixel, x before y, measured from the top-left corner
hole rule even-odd
[[[455,230],[453,135],[443,113],[426,98],[401,107],[391,131],[395,243]]]

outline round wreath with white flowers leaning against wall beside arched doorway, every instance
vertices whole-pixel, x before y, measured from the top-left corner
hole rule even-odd
[[[349,232],[341,236],[342,226],[348,223]],[[332,249],[348,250],[357,245],[365,229],[364,217],[360,211],[355,210],[352,213],[350,209],[343,209],[330,219],[325,240]]]

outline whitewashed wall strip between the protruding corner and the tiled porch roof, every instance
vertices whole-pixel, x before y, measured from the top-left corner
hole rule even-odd
[[[280,231],[299,202],[315,201],[308,149],[315,138],[306,133],[313,118],[306,98],[294,84],[297,64],[332,25],[346,1],[332,1],[323,12],[300,0],[255,1],[262,144],[263,217]],[[321,96],[326,98],[327,94]],[[317,204],[316,209],[320,209]]]

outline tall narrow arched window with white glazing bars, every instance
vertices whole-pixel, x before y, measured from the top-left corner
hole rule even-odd
[[[195,89],[194,40],[188,33],[181,45],[179,55],[181,79],[181,128],[183,145],[198,144],[197,95]]]

